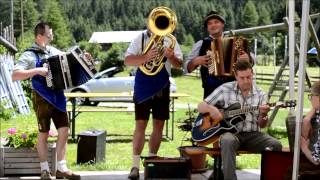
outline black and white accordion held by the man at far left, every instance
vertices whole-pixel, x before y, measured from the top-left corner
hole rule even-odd
[[[49,57],[44,61],[44,65],[48,67],[47,86],[55,90],[84,84],[97,72],[94,62],[86,58],[78,46],[67,53]]]

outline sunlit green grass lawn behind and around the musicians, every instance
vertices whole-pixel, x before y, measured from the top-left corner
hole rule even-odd
[[[273,67],[257,67],[267,71],[273,71]],[[311,72],[320,76],[320,71],[316,68],[311,69]],[[125,73],[120,74],[125,75]],[[201,79],[197,77],[182,76],[175,78],[178,92],[187,93],[191,95],[187,98],[180,98],[176,101],[177,104],[197,104],[202,100],[202,88]],[[259,82],[258,82],[259,83]],[[265,92],[268,91],[268,85],[261,85]],[[305,96],[304,108],[310,108],[310,103]],[[287,116],[287,110],[280,110],[272,127],[285,127],[285,118]],[[175,113],[175,134],[173,141],[162,141],[158,155],[175,157],[179,156],[177,148],[181,145],[190,145],[188,141],[184,141],[185,137],[190,137],[190,134],[186,134],[177,128],[177,121],[186,119],[186,109],[178,109]],[[36,128],[36,118],[34,113],[29,116],[18,115],[16,118],[12,118],[8,121],[1,120],[1,137],[5,136],[9,127]],[[170,126],[169,126],[170,127]],[[149,123],[147,134],[151,132],[151,123]],[[129,170],[131,166],[131,153],[132,153],[132,134],[134,130],[134,113],[82,113],[76,119],[76,133],[80,133],[85,130],[106,130],[107,142],[106,142],[106,161],[98,163],[96,165],[77,165],[77,144],[69,143],[67,151],[68,165],[71,169],[76,171],[81,170]],[[169,131],[170,132],[170,131]],[[149,136],[147,136],[147,139]],[[288,146],[286,137],[280,139],[283,146]],[[143,156],[146,156],[148,152],[148,145],[145,145],[143,150]],[[212,159],[208,159],[208,164],[212,165]],[[260,155],[241,155],[237,157],[238,168],[259,168],[260,167]],[[142,168],[142,165],[141,165]]]

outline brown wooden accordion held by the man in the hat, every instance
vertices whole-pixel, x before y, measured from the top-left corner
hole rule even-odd
[[[214,76],[233,76],[233,65],[239,55],[243,51],[249,53],[248,40],[242,36],[213,39],[210,49],[208,73]]]

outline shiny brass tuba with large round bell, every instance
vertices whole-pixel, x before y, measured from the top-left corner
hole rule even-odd
[[[152,32],[152,36],[143,50],[142,54],[147,53],[152,46],[155,46],[158,50],[158,55],[139,66],[140,70],[146,75],[156,75],[164,66],[164,38],[171,39],[170,48],[174,48],[176,44],[176,38],[171,34],[176,28],[177,16],[171,9],[160,6],[154,8],[148,17],[147,26]]]

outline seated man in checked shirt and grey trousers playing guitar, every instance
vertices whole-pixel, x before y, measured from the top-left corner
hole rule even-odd
[[[234,103],[240,103],[241,107],[259,106],[259,111],[247,113],[245,120],[236,124],[239,133],[227,132],[220,136],[225,180],[237,179],[236,151],[239,148],[250,152],[282,149],[278,140],[260,132],[260,128],[267,125],[270,107],[267,105],[267,95],[253,83],[252,65],[246,61],[238,61],[234,71],[236,81],[221,85],[198,105],[200,113],[210,113],[213,119],[223,118],[218,106],[227,108]]]

